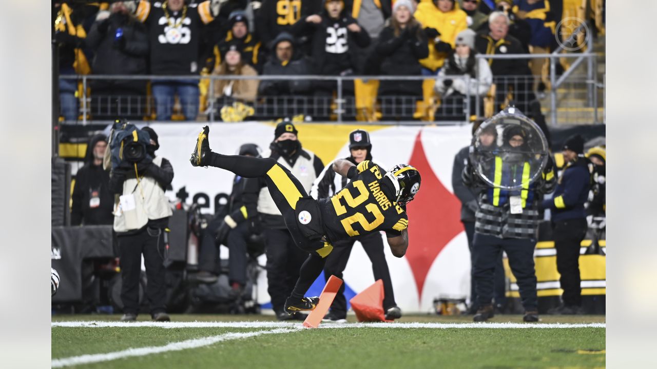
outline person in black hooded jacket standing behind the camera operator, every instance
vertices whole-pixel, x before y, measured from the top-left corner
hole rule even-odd
[[[85,165],[78,169],[73,188],[71,225],[111,225],[114,197],[110,192],[110,174],[102,168],[107,148],[105,135],[91,137]]]

